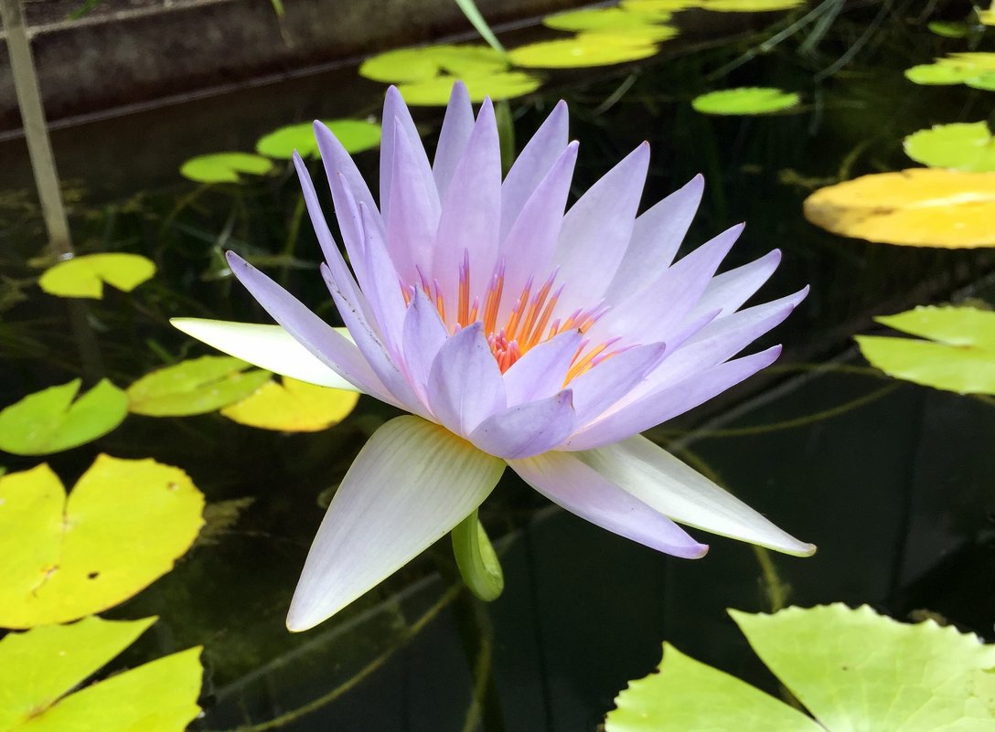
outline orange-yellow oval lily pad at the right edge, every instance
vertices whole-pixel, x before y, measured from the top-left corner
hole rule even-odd
[[[912,168],[865,175],[805,200],[805,218],[845,237],[910,247],[995,247],[995,174]]]

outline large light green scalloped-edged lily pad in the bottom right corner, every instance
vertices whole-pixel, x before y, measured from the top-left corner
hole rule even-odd
[[[606,732],[937,732],[995,728],[995,646],[864,606],[729,615],[812,717],[664,643],[659,673],[632,681]],[[814,717],[814,719],[813,719]]]

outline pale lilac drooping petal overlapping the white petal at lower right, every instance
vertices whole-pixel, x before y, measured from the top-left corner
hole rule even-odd
[[[708,547],[663,514],[567,453],[508,460],[521,478],[571,513],[676,557],[696,559]]]

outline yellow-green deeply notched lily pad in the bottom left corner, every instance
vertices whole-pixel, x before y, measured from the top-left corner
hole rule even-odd
[[[200,713],[200,647],[73,692],[155,622],[87,618],[0,640],[3,732],[178,732]]]

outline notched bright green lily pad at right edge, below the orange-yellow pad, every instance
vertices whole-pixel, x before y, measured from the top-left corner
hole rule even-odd
[[[859,335],[871,365],[897,379],[958,394],[995,394],[995,312],[916,307],[878,322],[917,338]]]

